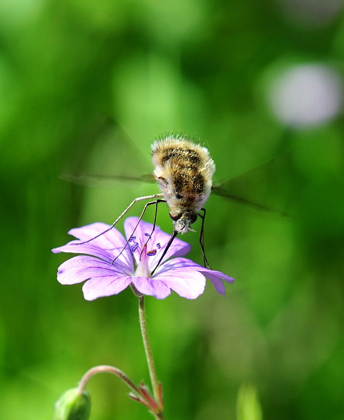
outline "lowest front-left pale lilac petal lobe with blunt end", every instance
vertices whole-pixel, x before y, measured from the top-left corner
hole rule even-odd
[[[94,300],[98,297],[119,294],[131,283],[130,277],[105,276],[91,279],[83,286],[83,293],[86,300]]]

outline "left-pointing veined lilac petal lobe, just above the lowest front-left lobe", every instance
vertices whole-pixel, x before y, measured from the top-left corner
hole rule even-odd
[[[57,280],[73,285],[85,280],[107,276],[127,276],[121,268],[88,255],[77,255],[63,262],[57,271]]]

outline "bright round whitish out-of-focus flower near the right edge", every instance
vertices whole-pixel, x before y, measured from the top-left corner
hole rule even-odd
[[[268,99],[274,114],[283,123],[315,126],[340,112],[342,78],[325,65],[298,65],[276,78],[270,87]]]

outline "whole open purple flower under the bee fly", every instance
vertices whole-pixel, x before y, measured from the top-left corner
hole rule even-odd
[[[127,238],[131,237],[137,222],[138,217],[129,217],[125,220],[124,230]],[[84,254],[74,256],[62,263],[58,267],[57,280],[64,285],[82,283],[87,280],[83,285],[84,297],[87,300],[118,294],[129,285],[133,285],[141,294],[152,295],[158,299],[167,297],[172,290],[187,299],[195,299],[204,291],[205,277],[212,282],[220,294],[225,294],[222,280],[228,283],[234,281],[232,277],[220,271],[210,270],[188,258],[183,258],[191,247],[178,238],[175,238],[160,265],[151,275],[170,235],[155,226],[154,233],[148,239],[153,225],[143,220],[135,231],[136,236],[133,237],[135,239],[127,245],[115,261],[113,261],[114,258],[123,250],[127,242],[115,228],[86,244],[81,244],[109,227],[105,223],[92,223],[71,229],[68,233],[78,239],[52,250],[54,253]],[[146,242],[147,245],[145,245]],[[171,257],[173,258],[168,260]]]

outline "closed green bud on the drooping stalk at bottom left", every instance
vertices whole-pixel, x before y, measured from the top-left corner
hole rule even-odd
[[[56,401],[53,420],[88,420],[90,410],[90,394],[71,388]]]

